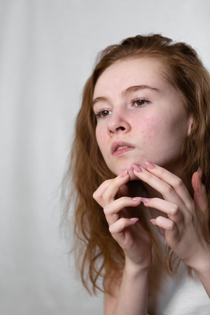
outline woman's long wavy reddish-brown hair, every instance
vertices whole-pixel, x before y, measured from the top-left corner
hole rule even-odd
[[[83,284],[89,292],[101,289],[104,280],[124,264],[121,248],[112,238],[103,209],[93,199],[93,192],[106,179],[115,177],[106,166],[96,136],[96,118],[92,109],[94,87],[99,76],[111,64],[127,58],[147,57],[163,64],[163,75],[179,93],[194,120],[190,135],[183,143],[180,176],[191,178],[198,167],[207,192],[207,208],[200,222],[203,237],[210,243],[210,77],[195,50],[182,42],[173,42],[159,34],[138,35],[108,46],[98,56],[96,66],[83,91],[82,106],[76,121],[75,139],[63,187],[72,185],[66,195],[64,220],[74,199],[75,251]],[[67,190],[66,190],[67,191]],[[149,224],[140,217],[158,248]],[[165,269],[173,271],[173,253],[168,249]],[[103,289],[106,289],[102,285]],[[102,290],[103,290],[102,289]]]

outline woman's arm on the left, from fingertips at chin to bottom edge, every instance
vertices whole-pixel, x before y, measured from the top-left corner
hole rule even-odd
[[[121,176],[105,181],[93,195],[104,208],[110,233],[125,254],[120,281],[116,282],[113,278],[108,282],[111,294],[105,294],[105,315],[146,315],[148,309],[152,243],[141,222],[137,218],[129,218],[127,211],[128,207],[138,206],[141,198],[123,196],[115,199],[129,179],[129,174],[123,172]]]

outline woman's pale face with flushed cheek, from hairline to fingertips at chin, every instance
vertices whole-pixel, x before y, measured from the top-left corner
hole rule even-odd
[[[161,62],[151,58],[119,60],[96,83],[96,138],[115,175],[133,163],[145,168],[145,161],[178,172],[193,118],[162,73]]]

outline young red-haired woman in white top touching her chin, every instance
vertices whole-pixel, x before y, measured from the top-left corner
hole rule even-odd
[[[136,36],[100,54],[66,178],[83,283],[103,280],[106,315],[210,313],[209,134],[190,46]]]

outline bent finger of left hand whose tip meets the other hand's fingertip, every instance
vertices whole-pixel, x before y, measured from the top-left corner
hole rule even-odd
[[[108,225],[112,225],[114,222],[116,222],[120,215],[119,212],[126,207],[137,207],[141,203],[141,197],[121,197],[118,198],[108,205],[104,207],[104,214],[106,217],[106,220],[108,222]]]

